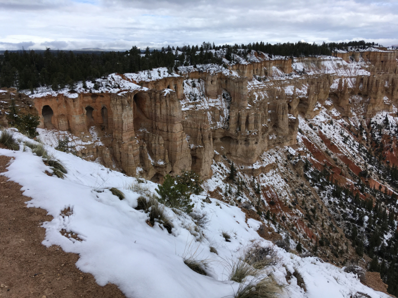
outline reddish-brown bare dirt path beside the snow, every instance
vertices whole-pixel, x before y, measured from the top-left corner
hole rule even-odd
[[[0,172],[9,157],[0,155]],[[78,255],[41,244],[51,221],[47,212],[26,208],[21,186],[0,176],[0,298],[124,298],[115,286],[100,287],[76,268]]]

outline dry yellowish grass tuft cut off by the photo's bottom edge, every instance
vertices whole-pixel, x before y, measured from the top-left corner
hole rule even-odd
[[[273,277],[267,276],[256,284],[241,284],[234,298],[277,298],[282,290],[283,286],[278,285]]]

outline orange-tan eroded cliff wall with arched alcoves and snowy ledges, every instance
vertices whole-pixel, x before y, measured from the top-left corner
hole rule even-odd
[[[160,70],[120,75],[136,87],[117,93],[31,99],[8,91],[0,99],[9,102],[13,96],[24,113],[37,110],[41,128],[72,133],[81,140],[77,154],[84,158],[100,158],[153,181],[182,169],[205,179],[220,155],[250,165],[267,149],[296,144],[299,114],[313,118],[322,106],[348,117],[353,110],[365,117],[391,111],[398,101],[397,53],[346,52],[294,61],[255,53],[256,61],[229,70],[191,68],[158,79],[151,77]]]

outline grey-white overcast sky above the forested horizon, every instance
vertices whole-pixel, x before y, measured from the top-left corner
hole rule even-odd
[[[253,41],[398,44],[398,0],[0,0],[0,50]]]

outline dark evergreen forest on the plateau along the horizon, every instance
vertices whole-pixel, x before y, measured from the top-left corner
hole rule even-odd
[[[376,44],[378,45],[378,44]],[[54,90],[70,86],[81,80],[94,80],[112,73],[135,73],[157,67],[166,67],[169,72],[179,66],[214,63],[223,64],[222,57],[210,50],[225,50],[225,59],[232,61],[232,54],[244,57],[251,51],[261,51],[271,56],[288,57],[331,55],[334,49],[347,47],[365,48],[375,43],[352,41],[348,43],[323,43],[317,45],[306,42],[269,44],[264,42],[248,45],[215,46],[203,42],[200,46],[183,46],[144,51],[132,47],[125,52],[74,53],[73,51],[5,51],[0,55],[0,87],[33,89],[52,86]],[[243,49],[243,51],[239,50]],[[178,50],[179,54],[175,54]],[[199,52],[199,54],[198,54]]]

